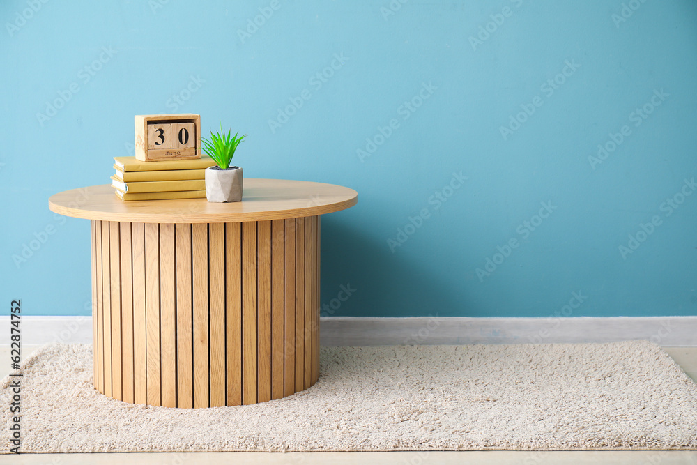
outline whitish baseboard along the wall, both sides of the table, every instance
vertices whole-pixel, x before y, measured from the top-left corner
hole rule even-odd
[[[22,344],[92,342],[92,317],[23,317]],[[650,340],[697,346],[697,317],[353,318],[321,319],[325,346],[530,344]],[[10,344],[10,317],[0,317],[0,346]]]

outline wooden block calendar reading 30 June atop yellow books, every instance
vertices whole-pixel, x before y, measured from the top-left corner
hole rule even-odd
[[[135,116],[135,158],[143,162],[201,158],[201,116]]]

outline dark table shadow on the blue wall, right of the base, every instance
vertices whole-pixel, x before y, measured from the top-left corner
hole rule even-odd
[[[358,227],[321,223],[323,317],[467,317],[463,289],[446,287]]]

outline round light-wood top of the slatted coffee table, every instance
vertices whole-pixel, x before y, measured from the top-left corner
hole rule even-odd
[[[354,206],[358,192],[340,185],[284,179],[245,179],[242,201],[206,199],[122,201],[109,184],[53,195],[55,213],[88,220],[136,223],[214,223],[323,215]]]

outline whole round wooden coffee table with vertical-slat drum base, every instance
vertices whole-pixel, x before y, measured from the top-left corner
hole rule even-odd
[[[319,215],[355,190],[245,179],[241,202],[52,196],[91,220],[94,386],[134,404],[255,404],[319,376]]]

